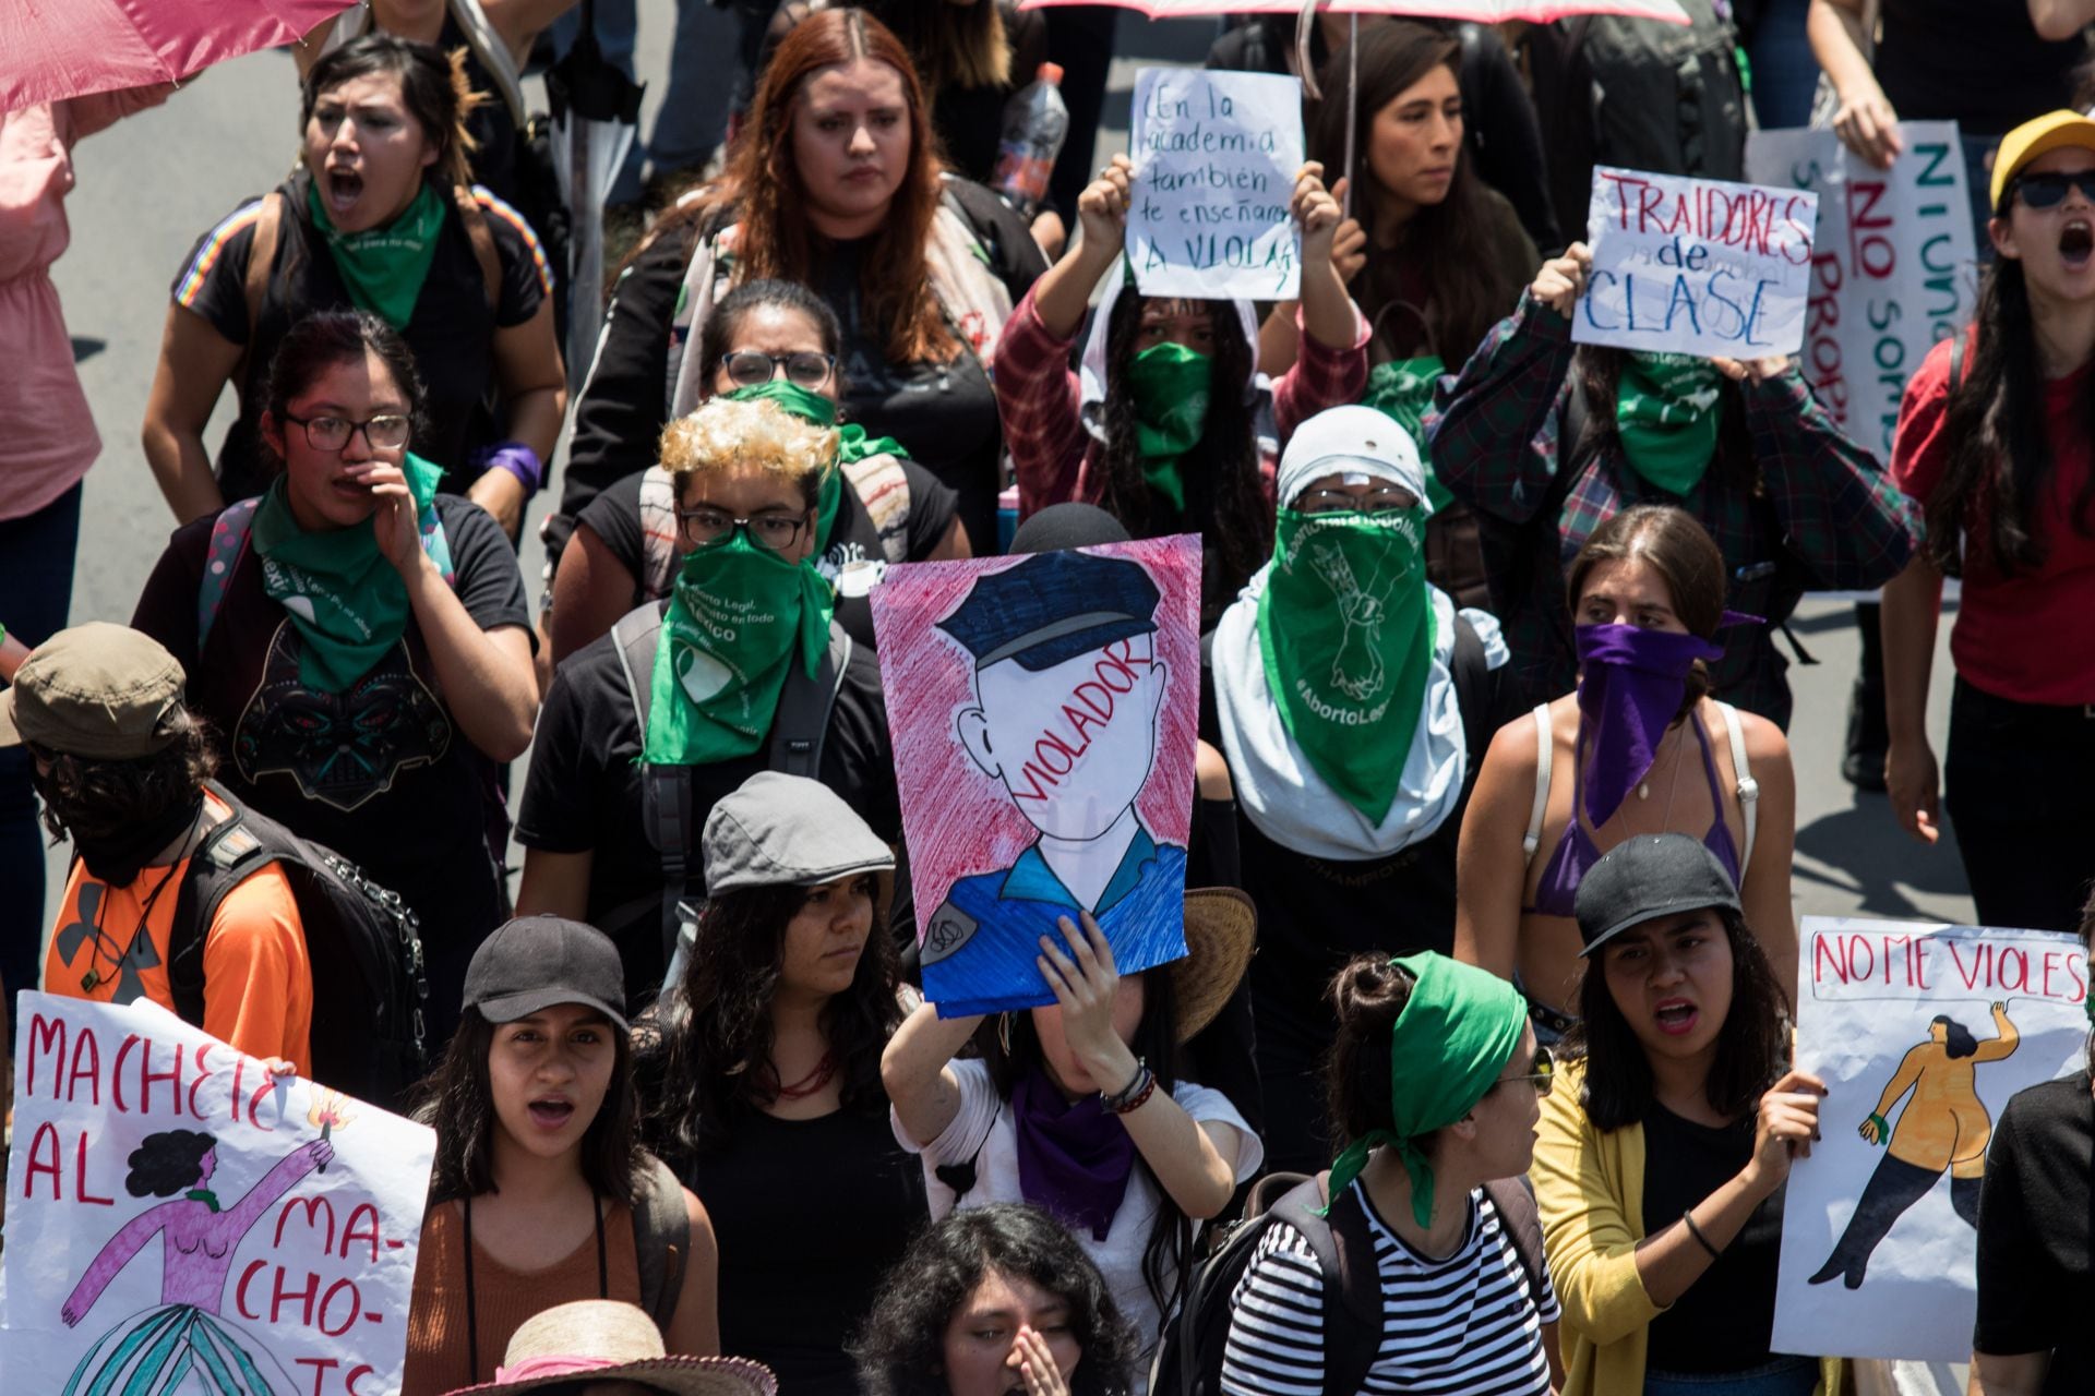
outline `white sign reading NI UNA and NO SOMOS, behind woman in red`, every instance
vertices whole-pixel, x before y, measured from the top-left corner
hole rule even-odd
[[[1745,170],[1818,195],[1798,362],[1839,427],[1892,458],[1898,400],[1938,339],[1978,303],[1971,199],[1955,121],[1900,121],[1904,153],[1877,170],[1833,132],[1754,132]]]

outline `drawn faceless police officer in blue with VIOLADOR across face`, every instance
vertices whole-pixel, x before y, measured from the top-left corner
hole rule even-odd
[[[980,578],[939,622],[974,657],[957,739],[1039,831],[1010,866],[957,879],[932,913],[924,967],[941,1011],[1008,1005],[1022,984],[1052,1003],[1039,938],[1079,910],[1121,963],[1171,959],[1152,942],[1179,933],[1186,850],[1152,839],[1135,810],[1169,680],[1156,603],[1140,563],[1039,553]]]

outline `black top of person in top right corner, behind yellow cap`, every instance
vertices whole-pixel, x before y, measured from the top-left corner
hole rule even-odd
[[[2028,0],[1883,0],[1877,84],[1906,121],[2001,136],[2066,107],[2087,40],[2049,42]]]

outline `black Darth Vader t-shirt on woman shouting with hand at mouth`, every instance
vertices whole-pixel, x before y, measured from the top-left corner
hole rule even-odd
[[[482,630],[515,626],[528,634],[524,576],[501,525],[455,496],[438,496],[436,515],[467,615]],[[503,837],[494,764],[453,722],[413,615],[402,640],[356,686],[335,695],[300,684],[304,643],[262,590],[253,548],[235,565],[199,655],[197,596],[214,521],[174,532],[132,626],[166,645],[189,674],[189,705],[216,733],[226,787],[358,864],[421,915],[432,996],[455,969],[448,1009],[436,1005],[455,1013],[465,959],[501,921],[503,885],[490,852]]]

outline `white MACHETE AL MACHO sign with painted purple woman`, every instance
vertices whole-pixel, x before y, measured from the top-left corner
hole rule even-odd
[[[436,1136],[138,1000],[17,1000],[0,1392],[392,1396]]]

